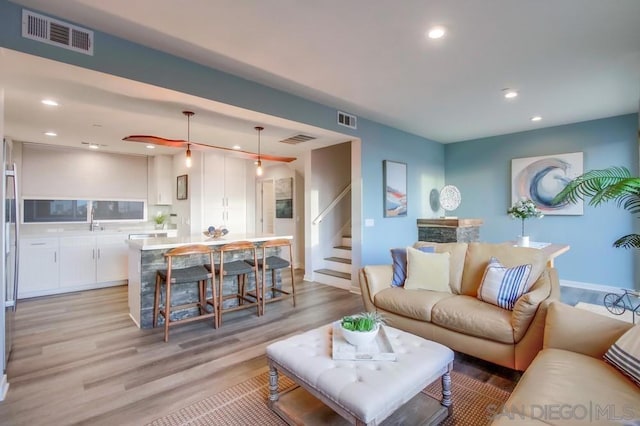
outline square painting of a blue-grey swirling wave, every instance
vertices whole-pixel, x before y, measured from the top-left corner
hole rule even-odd
[[[511,205],[528,198],[545,215],[582,215],[582,200],[575,204],[552,202],[571,180],[583,173],[582,169],[582,152],[514,158],[511,160]]]

